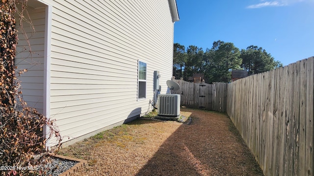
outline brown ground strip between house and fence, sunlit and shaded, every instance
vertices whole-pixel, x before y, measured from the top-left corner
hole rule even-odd
[[[181,111],[190,125],[138,119],[60,154],[88,160],[75,176],[262,176],[227,115]]]

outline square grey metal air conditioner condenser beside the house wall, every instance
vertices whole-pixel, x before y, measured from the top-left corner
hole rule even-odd
[[[158,116],[180,116],[180,95],[159,94],[157,98]]]

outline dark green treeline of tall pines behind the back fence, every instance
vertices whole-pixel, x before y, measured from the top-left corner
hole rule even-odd
[[[173,51],[173,76],[185,81],[193,73],[204,73],[206,83],[228,83],[232,70],[247,70],[252,75],[282,66],[262,47],[251,45],[239,50],[233,43],[220,40],[205,51],[195,45],[185,48],[178,43],[174,44]]]

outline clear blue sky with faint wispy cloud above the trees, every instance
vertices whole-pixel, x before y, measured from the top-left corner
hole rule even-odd
[[[314,0],[177,0],[174,43],[257,45],[284,66],[314,56]]]

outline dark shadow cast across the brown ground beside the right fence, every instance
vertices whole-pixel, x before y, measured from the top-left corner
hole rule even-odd
[[[136,176],[262,176],[262,171],[226,114],[192,112]],[[134,123],[154,123],[135,120]]]

